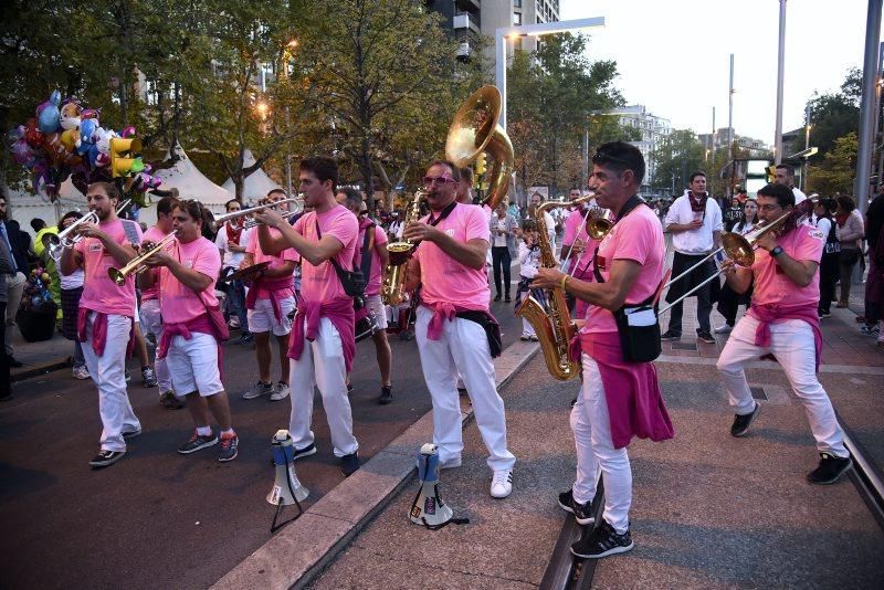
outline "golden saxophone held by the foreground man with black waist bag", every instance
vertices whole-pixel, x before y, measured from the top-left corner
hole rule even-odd
[[[537,238],[540,245],[540,266],[557,268],[558,262],[549,243],[544,213],[548,209],[582,204],[592,199],[592,194],[580,197],[573,201],[547,201],[537,207]],[[528,320],[537,333],[540,349],[544,352],[546,368],[554,378],[567,381],[580,375],[580,364],[568,358],[568,347],[577,327],[571,322],[568,313],[568,302],[565,292],[560,288],[546,289],[546,305],[538,302],[534,295],[528,295],[516,309],[516,315]]]

